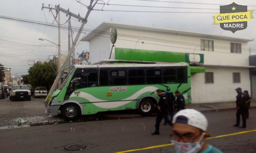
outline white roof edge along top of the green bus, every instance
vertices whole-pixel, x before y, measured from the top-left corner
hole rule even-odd
[[[175,64],[102,64],[102,65],[76,65],[76,68],[123,68],[123,67],[179,67],[186,63]]]

